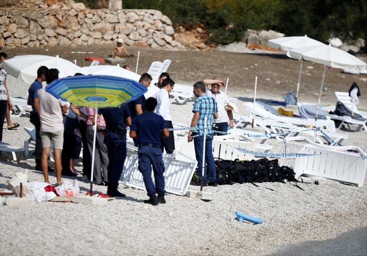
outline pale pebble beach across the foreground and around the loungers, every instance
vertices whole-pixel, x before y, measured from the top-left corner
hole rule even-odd
[[[200,79],[198,79],[200,80]],[[12,97],[27,99],[29,84],[8,77]],[[245,98],[241,92],[230,97]],[[259,94],[271,99],[270,94]],[[239,99],[240,114],[248,115]],[[328,102],[326,102],[328,103]],[[331,103],[331,102],[330,102]],[[190,124],[193,101],[172,104],[173,121]],[[12,117],[20,123],[17,130],[4,129],[3,141],[22,147],[33,129],[29,115]],[[342,146],[358,146],[367,152],[365,131],[337,131],[348,135]],[[272,153],[281,152],[281,142],[268,139]],[[285,165],[292,166],[294,160]],[[29,181],[43,181],[35,171],[34,157],[12,161],[10,153],[0,156],[0,188],[16,172],[28,171]],[[76,169],[81,171],[81,163]],[[62,180],[73,181],[66,176]],[[81,194],[89,183],[78,180]],[[51,183],[56,182],[51,173]],[[250,183],[205,187],[215,200],[205,202],[168,194],[166,204],[151,206],[143,190],[123,187],[125,198],[106,205],[43,202],[34,206],[0,206],[0,255],[267,255],[281,246],[303,241],[331,239],[353,228],[367,226],[367,185],[358,188],[337,181],[303,178],[302,189],[285,183]],[[107,187],[94,186],[103,193]],[[200,187],[190,185],[189,190]],[[239,222],[234,212],[240,211],[261,218],[262,224]],[[300,252],[301,253],[301,252]],[[301,253],[302,254],[302,253]]]

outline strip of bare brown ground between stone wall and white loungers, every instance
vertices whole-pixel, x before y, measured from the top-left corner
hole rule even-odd
[[[14,50],[3,49],[9,58],[21,54],[59,55],[70,61],[76,60],[78,66],[89,66],[90,61],[85,61],[86,56],[106,58],[114,45],[94,45],[88,47],[56,47],[46,51],[45,48]],[[170,59],[171,65],[168,73],[171,78],[180,84],[192,85],[205,78],[220,77],[226,81],[229,77],[227,93],[231,97],[241,97],[243,100],[253,98],[255,76],[257,76],[257,98],[276,99],[283,101],[283,94],[295,91],[299,74],[300,62],[288,58],[284,52],[273,54],[265,51],[255,54],[209,51],[162,51],[127,47],[135,57],[126,57],[124,64],[136,70],[138,51],[140,51],[138,72],[148,71],[153,61]],[[81,53],[78,53],[81,52]],[[366,55],[358,56],[364,62]],[[341,69],[327,70],[322,93],[321,104],[335,105],[334,91],[348,91],[355,81],[362,92],[360,97],[361,109],[367,109],[367,75],[352,75],[340,72]],[[321,87],[323,66],[313,62],[304,62],[299,99],[303,102],[317,103]],[[241,94],[241,95],[238,95]]]

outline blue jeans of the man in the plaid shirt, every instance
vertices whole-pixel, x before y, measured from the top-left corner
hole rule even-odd
[[[204,180],[203,180],[204,184],[208,182],[207,170],[209,174],[209,181],[210,182],[217,181],[217,173],[215,170],[212,143],[213,143],[213,134],[209,134],[206,136],[206,141],[205,141],[205,163],[206,165],[204,165]],[[203,170],[204,135],[197,136],[194,138],[194,147],[195,147],[196,160],[198,161],[198,168],[199,168],[198,176],[199,176],[199,181],[201,182],[202,170]]]

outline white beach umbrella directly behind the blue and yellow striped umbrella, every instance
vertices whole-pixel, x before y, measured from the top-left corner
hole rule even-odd
[[[140,75],[130,70],[124,69],[120,67],[119,65],[116,65],[116,66],[111,66],[111,65],[88,66],[88,67],[82,67],[81,70],[82,70],[82,73],[85,75],[91,74],[91,75],[117,76],[117,77],[131,79],[137,82],[139,82],[139,79],[140,79]],[[148,91],[144,93],[144,96],[145,98],[153,97],[158,91],[159,91],[159,88],[157,86],[151,85],[148,87]]]

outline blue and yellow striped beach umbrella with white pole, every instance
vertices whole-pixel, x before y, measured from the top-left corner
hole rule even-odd
[[[46,91],[56,98],[70,101],[77,106],[95,107],[97,120],[98,108],[116,107],[135,100],[143,95],[147,91],[147,88],[136,81],[122,77],[81,75],[55,80],[47,85]],[[93,189],[97,121],[95,122],[94,130],[90,171],[90,196],[92,196]]]

